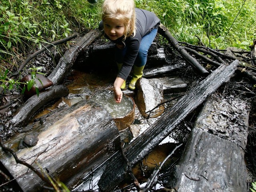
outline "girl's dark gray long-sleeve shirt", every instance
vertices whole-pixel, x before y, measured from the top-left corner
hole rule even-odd
[[[140,48],[142,37],[151,32],[152,29],[157,29],[160,25],[160,19],[154,13],[148,10],[135,8],[135,14],[136,34],[134,37],[130,36],[124,41],[125,46],[127,46],[127,52],[124,56],[122,68],[117,75],[124,80],[126,80],[130,74],[130,71],[132,70],[132,66]],[[99,28],[103,29],[103,22],[100,22]],[[121,40],[122,37],[118,40],[115,40],[114,42],[120,42]]]

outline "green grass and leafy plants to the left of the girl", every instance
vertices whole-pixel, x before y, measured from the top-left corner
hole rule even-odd
[[[43,44],[96,28],[99,8],[87,0],[1,0],[0,72]]]

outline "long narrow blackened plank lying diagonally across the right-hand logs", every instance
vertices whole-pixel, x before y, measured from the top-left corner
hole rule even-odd
[[[156,122],[134,139],[126,148],[124,154],[131,165],[141,160],[164,138],[166,138],[184,118],[196,109],[206,98],[215,92],[217,88],[230,79],[234,73],[238,60],[226,66],[222,64],[205,80],[182,97],[172,108],[167,111]],[[98,186],[103,191],[110,191],[122,181],[126,174],[127,165],[120,153],[115,154],[107,162],[107,169],[102,174]]]

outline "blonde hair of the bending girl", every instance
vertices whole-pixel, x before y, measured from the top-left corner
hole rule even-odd
[[[134,36],[135,27],[135,4],[134,0],[104,0],[102,5],[102,21],[117,19],[124,23],[124,38]]]

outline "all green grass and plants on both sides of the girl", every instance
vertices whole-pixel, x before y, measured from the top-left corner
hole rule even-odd
[[[103,0],[1,0],[0,76],[28,52],[74,32],[98,27]],[[248,50],[256,38],[256,0],[135,0],[156,13],[179,41]]]

